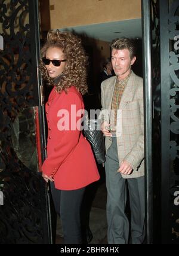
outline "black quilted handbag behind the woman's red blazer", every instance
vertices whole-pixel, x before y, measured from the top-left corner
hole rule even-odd
[[[97,119],[84,120],[84,136],[91,144],[97,163],[105,161],[104,136],[100,129],[100,121]]]

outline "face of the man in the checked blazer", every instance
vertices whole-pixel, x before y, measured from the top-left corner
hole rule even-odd
[[[131,71],[131,65],[134,64],[136,57],[131,59],[128,49],[112,50],[112,66],[116,76],[119,79],[125,78]]]

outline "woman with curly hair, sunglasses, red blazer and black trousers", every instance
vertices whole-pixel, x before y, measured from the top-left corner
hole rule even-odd
[[[82,243],[81,203],[85,187],[100,176],[81,129],[82,95],[87,92],[87,57],[81,39],[69,32],[50,31],[41,50],[39,69],[53,89],[46,103],[47,159],[42,177],[60,215],[64,243]]]

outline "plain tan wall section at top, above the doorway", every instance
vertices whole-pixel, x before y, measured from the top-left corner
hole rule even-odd
[[[141,0],[50,0],[50,9],[51,29],[141,18]]]

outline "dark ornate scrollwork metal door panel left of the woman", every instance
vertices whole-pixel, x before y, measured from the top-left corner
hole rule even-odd
[[[45,156],[38,27],[38,1],[0,0],[1,244],[51,243],[48,188],[38,172]]]

